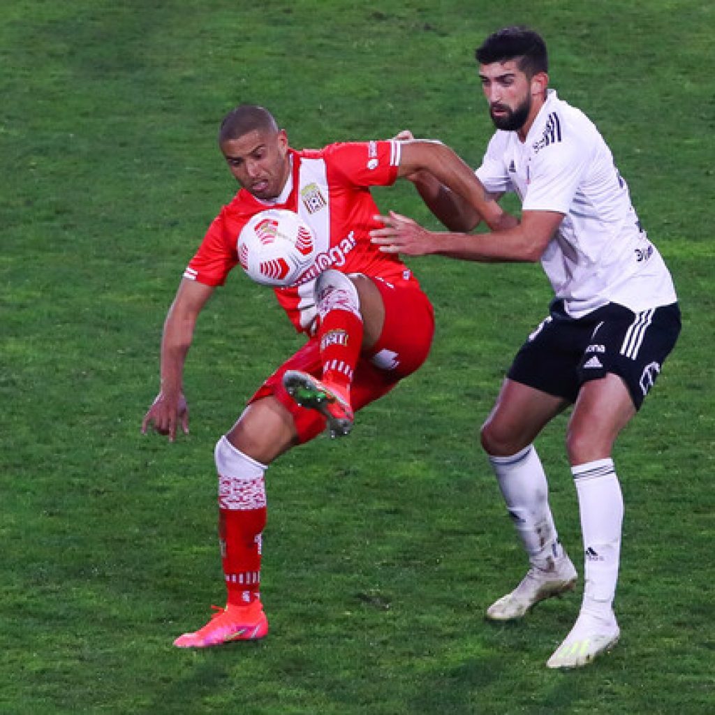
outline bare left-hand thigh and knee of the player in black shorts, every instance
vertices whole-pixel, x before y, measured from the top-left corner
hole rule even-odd
[[[495,457],[516,454],[530,445],[568,404],[568,400],[558,395],[506,378],[481,428],[483,448]]]

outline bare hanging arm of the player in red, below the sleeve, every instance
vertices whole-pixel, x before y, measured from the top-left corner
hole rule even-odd
[[[184,278],[164,321],[161,352],[161,389],[142,420],[142,433],[154,431],[176,439],[181,427],[189,432],[189,408],[184,398],[184,361],[194,337],[197,318],[214,287]]]

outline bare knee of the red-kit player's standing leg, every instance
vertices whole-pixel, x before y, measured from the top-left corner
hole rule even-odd
[[[237,449],[262,464],[270,464],[297,444],[295,420],[275,395],[247,405],[226,436]]]

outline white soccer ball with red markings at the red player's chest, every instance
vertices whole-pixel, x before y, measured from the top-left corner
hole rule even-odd
[[[236,245],[248,277],[262,285],[292,285],[315,260],[315,235],[300,216],[267,209],[242,228]]]

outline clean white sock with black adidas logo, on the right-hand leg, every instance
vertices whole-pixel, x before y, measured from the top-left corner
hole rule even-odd
[[[571,468],[585,552],[582,611],[613,618],[621,553],[623,495],[612,459]]]

